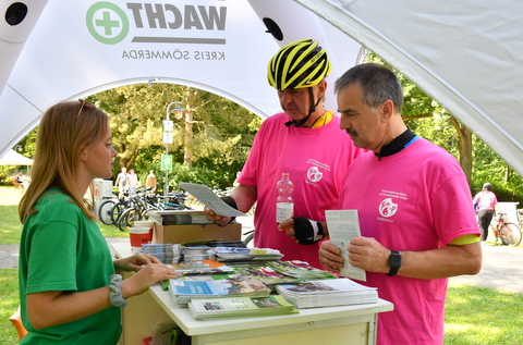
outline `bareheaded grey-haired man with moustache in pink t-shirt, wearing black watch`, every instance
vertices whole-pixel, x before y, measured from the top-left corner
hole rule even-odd
[[[338,209],[357,210],[362,236],[341,249],[325,241],[321,264],[366,271],[394,310],[378,316],[377,344],[443,344],[449,276],[482,267],[479,230],[458,161],[403,123],[403,89],[396,74],[356,65],[335,85],[341,128],[370,150],[349,167]],[[284,225],[282,223],[282,225]]]

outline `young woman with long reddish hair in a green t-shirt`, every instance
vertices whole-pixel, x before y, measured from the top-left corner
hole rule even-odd
[[[36,140],[33,180],[19,206],[21,344],[118,344],[121,307],[179,276],[143,254],[112,260],[84,194],[112,175],[107,114],[85,100],[52,106]],[[136,271],[123,280],[122,271]]]

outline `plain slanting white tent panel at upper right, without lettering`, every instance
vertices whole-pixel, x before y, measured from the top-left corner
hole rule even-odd
[[[401,71],[523,176],[523,2],[296,2]]]

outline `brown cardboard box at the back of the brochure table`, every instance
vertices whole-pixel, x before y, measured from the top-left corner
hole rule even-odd
[[[216,224],[162,225],[155,222],[153,243],[181,244],[192,241],[242,241],[242,224],[218,226]]]

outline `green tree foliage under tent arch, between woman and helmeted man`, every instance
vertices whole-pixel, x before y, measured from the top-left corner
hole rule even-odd
[[[160,188],[165,180],[165,173],[159,171],[160,159],[166,153],[162,121],[171,101],[181,101],[185,112],[181,119],[170,114],[174,131],[169,155],[174,162],[187,165],[186,171],[174,169],[172,186],[180,177],[208,180],[218,185],[232,183],[234,177],[230,176],[242,169],[260,124],[259,118],[232,101],[180,85],[130,85],[88,99],[111,114],[113,145],[120,152],[114,177],[121,167],[133,168],[141,181],[149,170],[155,170]]]

